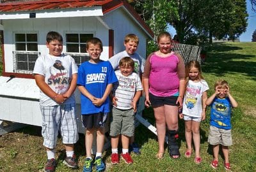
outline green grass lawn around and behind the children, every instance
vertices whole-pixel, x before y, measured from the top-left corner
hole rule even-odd
[[[232,112],[232,139],[230,147],[230,163],[232,171],[256,171],[256,43],[218,43],[209,48],[205,64],[202,65],[205,80],[209,84],[208,96],[213,93],[214,82],[220,78],[228,81],[232,96],[239,107]],[[144,111],[144,117],[155,124],[152,109]],[[209,132],[209,110],[207,119],[201,125],[201,155],[203,162],[197,165],[184,157],[186,141],[184,122],[180,127],[180,159],[171,159],[167,149],[163,160],[157,160],[156,136],[143,125],[136,128],[136,141],[141,146],[142,154],[132,154],[134,164],[127,165],[121,161],[111,165],[111,150],[104,152],[104,160],[108,166],[106,171],[225,171],[220,154],[220,166],[217,170],[210,167],[212,150],[207,143]],[[85,159],[83,134],[76,144],[76,154],[80,169],[66,168],[61,161],[65,154],[61,140],[58,140],[58,168],[56,171],[82,171]],[[0,171],[42,171],[46,154],[42,146],[40,127],[25,127],[17,132],[0,136]]]

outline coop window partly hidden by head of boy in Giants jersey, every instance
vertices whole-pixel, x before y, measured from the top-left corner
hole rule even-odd
[[[67,33],[66,46],[67,52],[86,53],[86,41],[93,38],[93,34]]]

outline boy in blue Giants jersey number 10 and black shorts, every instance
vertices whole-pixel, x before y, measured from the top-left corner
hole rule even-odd
[[[85,133],[86,159],[83,172],[92,171],[92,143],[93,133],[97,132],[97,153],[95,166],[97,171],[103,171],[102,161],[104,146],[104,125],[109,115],[109,93],[113,83],[118,82],[109,61],[100,60],[103,50],[99,38],[92,38],[86,42],[86,50],[90,60],[83,62],[78,69],[77,86],[81,92],[81,114]]]

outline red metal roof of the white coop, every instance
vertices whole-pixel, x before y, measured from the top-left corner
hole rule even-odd
[[[108,13],[115,10],[120,6],[124,6],[132,17],[134,17],[141,26],[152,36],[154,33],[148,27],[147,24],[136,13],[134,8],[125,0],[23,0],[23,1],[6,1],[6,3],[0,3],[0,13],[15,13],[20,11],[40,11],[40,10],[61,10],[61,9],[74,9],[74,8],[86,8],[92,6],[102,6],[102,13]]]

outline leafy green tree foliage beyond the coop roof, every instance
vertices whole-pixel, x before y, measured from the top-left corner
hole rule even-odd
[[[256,1],[256,0],[251,0]],[[132,5],[150,25],[155,34],[175,27],[181,43],[212,37],[235,39],[246,31],[245,0],[144,0]]]

